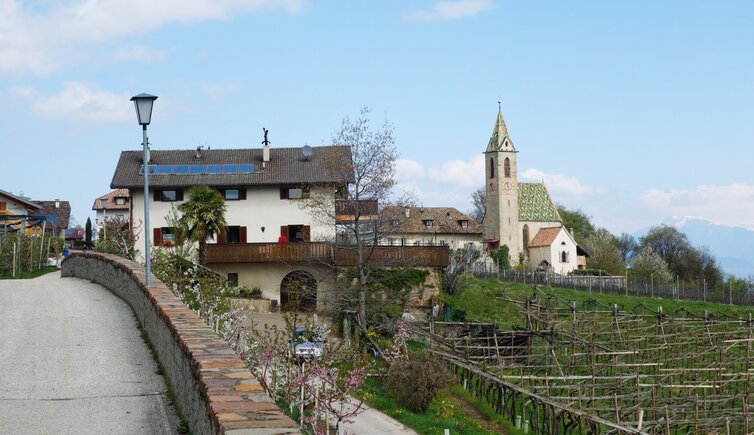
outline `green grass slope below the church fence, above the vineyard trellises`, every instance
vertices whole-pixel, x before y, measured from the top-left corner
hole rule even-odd
[[[679,308],[685,308],[699,315],[704,314],[704,311],[708,311],[710,313],[720,313],[743,318],[747,318],[750,312],[754,312],[754,307],[751,306],[601,294],[595,291],[592,291],[590,296],[587,291],[541,285],[539,288],[547,294],[553,294],[563,300],[576,302],[578,309],[586,308],[588,301],[594,299],[601,304],[617,304],[620,310],[633,312],[640,312],[641,309],[637,308],[639,304],[643,304],[654,311],[657,311],[662,306],[663,312],[668,315],[673,314]],[[468,277],[461,283],[459,292],[456,295],[443,294],[442,299],[443,302],[455,310],[464,311],[467,321],[497,323],[501,329],[509,330],[515,327],[523,327],[525,325],[524,316],[521,310],[513,303],[501,300],[499,297],[508,297],[523,301],[527,296],[531,297],[533,294],[533,285],[500,283],[495,280],[481,280]]]

